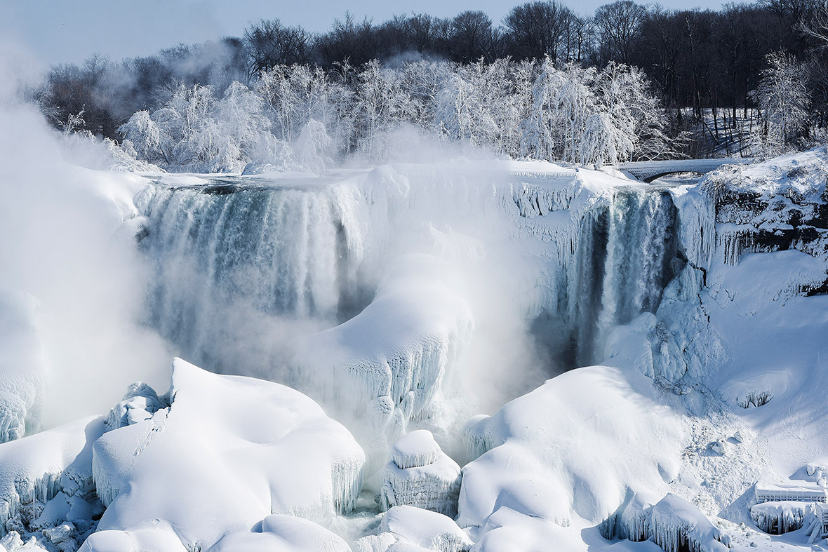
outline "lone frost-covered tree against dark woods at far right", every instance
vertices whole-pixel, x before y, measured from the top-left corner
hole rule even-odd
[[[751,95],[762,112],[763,128],[758,141],[767,155],[778,155],[794,146],[806,132],[810,97],[808,74],[801,63],[786,52],[768,54],[758,88]]]

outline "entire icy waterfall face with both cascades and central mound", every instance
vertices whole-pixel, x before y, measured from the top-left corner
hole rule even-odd
[[[160,181],[135,203],[156,266],[152,324],[205,366],[309,393],[354,430],[368,473],[408,429],[450,430],[443,400],[471,375],[457,373],[465,350],[535,346],[516,342],[523,329],[487,330],[498,318],[532,326],[550,372],[574,367],[602,358],[615,325],[657,310],[686,262],[671,193],[548,163]],[[437,259],[485,274],[486,289],[455,285]],[[301,324],[310,337],[285,335]],[[286,343],[300,343],[297,366],[274,368],[290,363]],[[525,391],[514,379],[503,385]]]

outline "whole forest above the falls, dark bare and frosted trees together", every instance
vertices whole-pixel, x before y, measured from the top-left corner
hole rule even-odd
[[[437,137],[585,165],[773,155],[828,122],[828,8],[557,0],[310,33],[277,18],[156,55],[56,65],[28,91],[67,135],[166,170],[318,170]],[[402,133],[401,133],[402,131]]]

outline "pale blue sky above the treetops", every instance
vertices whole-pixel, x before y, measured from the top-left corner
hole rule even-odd
[[[278,18],[326,31],[346,10],[383,22],[395,14],[454,16],[483,10],[493,22],[526,0],[0,0],[0,39],[23,46],[46,65],[79,63],[94,53],[112,60],[150,55],[176,44],[241,36],[250,22]],[[609,0],[564,0],[591,14]],[[642,2],[645,3],[645,2]],[[718,9],[720,0],[662,0],[664,7]]]

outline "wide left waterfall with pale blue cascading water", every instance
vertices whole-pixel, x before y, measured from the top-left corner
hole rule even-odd
[[[135,203],[155,266],[149,323],[194,362],[276,377],[269,343],[291,338],[278,334],[330,327],[367,303],[349,199],[327,186],[147,187]]]

